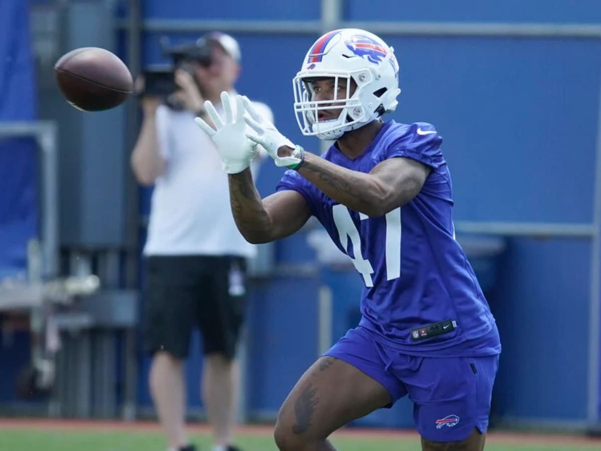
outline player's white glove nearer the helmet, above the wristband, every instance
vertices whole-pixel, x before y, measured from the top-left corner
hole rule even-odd
[[[288,138],[282,135],[282,133],[276,129],[275,125],[258,114],[254,106],[252,106],[251,101],[248,100],[248,97],[239,97],[242,97],[244,108],[246,109],[246,112],[248,112],[248,115],[245,115],[244,117],[246,123],[257,132],[246,132],[246,137],[263,146],[265,150],[267,150],[267,153],[269,153],[269,156],[275,161],[276,166],[295,167],[301,164],[301,158],[296,158],[294,156],[278,156],[278,149],[280,147],[288,146],[291,149],[295,149],[296,146],[294,146]]]

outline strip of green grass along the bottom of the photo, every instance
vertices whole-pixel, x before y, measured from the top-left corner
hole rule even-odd
[[[163,451],[164,439],[155,430],[131,431],[118,428],[110,431],[85,428],[0,428],[0,450],[2,451]],[[200,450],[210,449],[206,434],[192,434],[192,440]],[[340,432],[332,442],[341,451],[409,451],[419,450],[419,439],[415,434],[393,435],[390,432],[369,432],[363,435]],[[255,432],[245,431],[238,436],[237,444],[244,451],[277,451],[268,429]],[[601,441],[586,441],[581,437],[554,437],[552,435],[506,435],[491,434],[487,451],[586,451],[601,449]]]

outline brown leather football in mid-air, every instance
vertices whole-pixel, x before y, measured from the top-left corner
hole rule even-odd
[[[83,47],[63,55],[54,66],[56,84],[67,102],[83,111],[102,111],[123,103],[133,79],[117,55]]]

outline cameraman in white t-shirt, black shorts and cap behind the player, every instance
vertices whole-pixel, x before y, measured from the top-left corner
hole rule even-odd
[[[207,120],[204,101],[221,109],[234,93],[240,49],[227,34],[207,34],[172,52],[175,91],[160,96],[142,79],[144,119],[132,153],[142,185],[154,184],[144,247],[145,346],[150,390],[169,450],[192,451],[185,432],[185,374],[191,331],[203,334],[202,394],[213,426],[214,451],[235,451],[239,367],[236,346],[245,316],[246,259],[253,245],[237,230],[228,179],[213,141],[194,123]],[[150,80],[147,80],[150,82]],[[272,120],[266,105],[255,103]],[[256,177],[257,159],[252,169]]]

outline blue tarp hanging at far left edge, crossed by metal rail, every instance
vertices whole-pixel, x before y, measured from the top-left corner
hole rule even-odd
[[[37,93],[29,2],[0,1],[0,121],[31,121]],[[0,279],[25,274],[38,235],[38,168],[33,138],[0,138]]]

